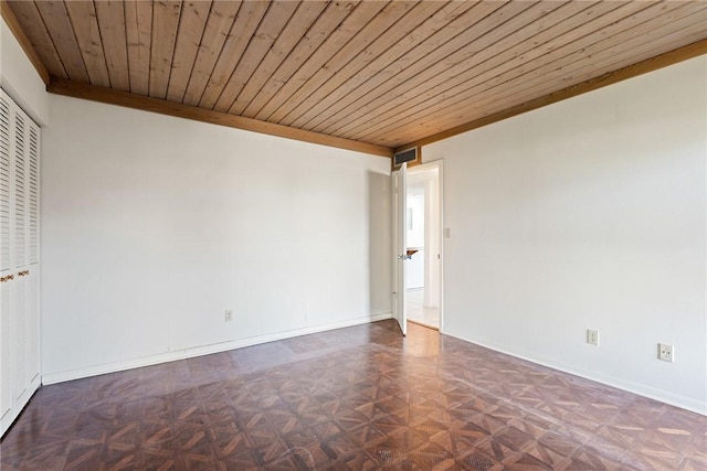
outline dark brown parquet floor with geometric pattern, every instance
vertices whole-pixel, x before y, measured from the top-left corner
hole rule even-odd
[[[394,321],[40,389],[14,470],[706,470],[707,418]]]

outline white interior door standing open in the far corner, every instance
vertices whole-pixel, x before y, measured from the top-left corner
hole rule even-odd
[[[403,335],[408,334],[405,312],[405,260],[408,259],[408,179],[407,163],[393,172],[393,315]]]

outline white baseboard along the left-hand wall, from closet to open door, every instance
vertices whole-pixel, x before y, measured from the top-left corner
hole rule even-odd
[[[221,342],[210,345],[196,346],[191,349],[176,350],[170,352],[160,353],[157,355],[144,356],[140,358],[126,360],[124,362],[106,363],[102,365],[88,366],[85,368],[77,368],[67,372],[50,373],[42,376],[42,384],[50,385],[56,383],[64,383],[73,379],[81,379],[89,376],[97,376],[107,373],[122,372],[125,370],[139,368],[141,366],[150,366],[159,363],[173,362],[177,360],[192,358],[194,356],[209,355],[212,353],[226,352],[229,350],[242,349],[244,346],[257,345],[260,343],[274,342],[276,340],[291,339],[299,335],[307,335],[310,333],[325,332],[334,329],[348,328],[351,325],[360,325],[370,322],[382,321],[384,319],[391,319],[392,312],[384,312],[380,314],[371,314],[362,318],[350,319],[342,322],[335,322],[331,324],[321,324],[315,327],[307,327],[302,329],[294,329],[285,332],[277,332],[266,335],[251,336],[247,339],[233,340],[229,342]]]

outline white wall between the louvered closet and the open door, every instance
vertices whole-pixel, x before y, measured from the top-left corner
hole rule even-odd
[[[387,159],[50,105],[45,383],[390,315]]]

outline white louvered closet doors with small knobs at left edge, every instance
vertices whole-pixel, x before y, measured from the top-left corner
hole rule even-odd
[[[0,90],[0,433],[40,386],[40,128]]]

